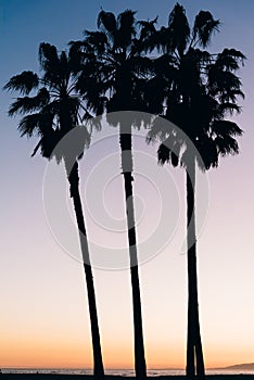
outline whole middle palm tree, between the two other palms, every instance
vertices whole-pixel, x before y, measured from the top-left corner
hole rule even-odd
[[[135,13],[126,10],[115,17],[113,13],[101,10],[98,16],[99,30],[86,31],[85,40],[73,42],[73,48],[85,52],[86,55],[86,72],[79,77],[79,89],[89,111],[93,115],[106,111],[107,122],[119,126],[134,306],[135,369],[137,377],[144,378],[147,366],[132,197],[131,138],[131,127],[140,127],[141,121],[134,119],[132,114],[125,111],[144,111],[142,93],[151,69],[151,61],[140,52]],[[117,111],[124,112],[123,117],[115,113]]]

